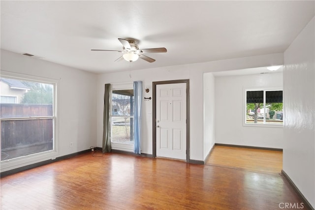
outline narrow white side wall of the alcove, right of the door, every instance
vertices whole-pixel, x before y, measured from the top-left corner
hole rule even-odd
[[[203,158],[215,144],[215,77],[203,74]]]

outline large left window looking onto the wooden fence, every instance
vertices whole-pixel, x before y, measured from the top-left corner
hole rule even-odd
[[[19,165],[27,163],[26,159],[34,161],[36,155],[42,158],[56,153],[57,83],[30,78],[1,77],[1,82],[10,80],[11,84],[27,87],[18,90],[21,99],[16,104],[3,102],[5,98],[1,96],[1,166],[4,168],[12,167],[14,162]],[[4,91],[17,90],[10,88]]]

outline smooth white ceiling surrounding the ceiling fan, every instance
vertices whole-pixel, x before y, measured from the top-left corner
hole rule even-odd
[[[1,49],[96,73],[284,52],[315,1],[1,1]],[[117,38],[157,61],[114,62]]]

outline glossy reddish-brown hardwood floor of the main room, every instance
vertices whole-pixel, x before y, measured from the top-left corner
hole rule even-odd
[[[279,174],[91,153],[1,178],[1,210],[273,210],[300,203]]]

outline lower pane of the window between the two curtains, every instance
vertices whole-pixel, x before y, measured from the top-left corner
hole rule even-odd
[[[133,144],[133,118],[112,117],[112,142]]]

